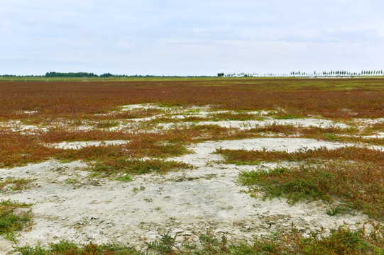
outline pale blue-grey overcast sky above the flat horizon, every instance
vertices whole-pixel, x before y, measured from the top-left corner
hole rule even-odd
[[[0,0],[0,74],[384,69],[383,0]]]

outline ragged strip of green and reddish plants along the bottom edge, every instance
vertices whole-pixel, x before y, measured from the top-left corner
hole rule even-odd
[[[169,234],[156,242],[147,243],[143,251],[137,251],[127,246],[116,246],[114,244],[75,244],[73,242],[61,241],[58,244],[45,246],[22,246],[16,251],[22,255],[248,255],[248,254],[383,254],[384,252],[384,228],[375,226],[371,233],[364,228],[351,230],[344,227],[331,229],[326,235],[319,232],[312,232],[309,237],[297,229],[292,228],[289,232],[274,233],[272,236],[256,237],[252,243],[239,242],[230,243],[226,237],[221,239],[212,234],[205,234],[199,237],[199,244],[183,242],[177,245],[175,237]]]

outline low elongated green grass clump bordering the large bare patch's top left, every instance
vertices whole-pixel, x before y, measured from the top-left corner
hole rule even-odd
[[[149,173],[166,173],[168,171],[175,171],[178,169],[190,169],[190,164],[166,161],[163,159],[126,159],[126,158],[112,158],[103,159],[93,164],[93,170],[105,176],[114,174],[149,174]]]

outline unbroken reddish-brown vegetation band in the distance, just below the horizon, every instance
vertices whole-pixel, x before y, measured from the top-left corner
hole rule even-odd
[[[383,79],[224,79],[214,81],[1,82],[0,119],[69,118],[109,113],[116,106],[162,103],[224,110],[274,110],[324,118],[380,118]],[[343,88],[349,88],[347,91]],[[348,109],[349,111],[345,111]]]

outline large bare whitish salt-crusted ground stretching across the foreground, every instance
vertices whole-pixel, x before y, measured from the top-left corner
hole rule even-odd
[[[0,169],[1,179],[31,178],[32,187],[24,191],[3,188],[1,199],[35,203],[33,225],[20,232],[20,244],[47,244],[60,239],[130,246],[145,246],[161,234],[177,234],[197,242],[199,234],[210,231],[218,237],[226,234],[231,241],[248,240],[260,234],[289,229],[291,223],[302,232],[368,222],[361,212],[329,216],[322,201],[288,205],[284,199],[261,200],[242,193],[235,179],[241,170],[252,166],[217,163],[216,148],[270,149],[295,151],[302,147],[337,148],[346,146],[298,138],[263,138],[204,142],[193,145],[194,151],[174,158],[195,166],[192,170],[161,176],[133,176],[124,183],[111,179],[89,178],[82,162],[40,164]],[[383,147],[380,147],[383,149]],[[275,163],[260,167],[273,167]],[[67,179],[77,179],[68,184]],[[143,187],[143,188],[141,188]],[[0,237],[0,251],[10,251],[12,242]],[[1,254],[1,252],[0,252]]]

